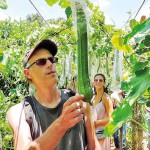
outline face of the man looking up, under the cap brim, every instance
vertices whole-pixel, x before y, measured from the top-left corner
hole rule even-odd
[[[52,54],[46,49],[41,49],[30,58],[28,65],[41,58],[47,59],[49,57],[53,57]],[[52,86],[58,82],[55,63],[51,63],[49,60],[46,61],[45,65],[35,63],[29,69],[25,69],[24,73],[35,86]]]

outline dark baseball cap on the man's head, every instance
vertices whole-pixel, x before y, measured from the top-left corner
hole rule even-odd
[[[57,50],[58,50],[57,45],[53,41],[48,40],[48,39],[41,40],[38,44],[36,44],[36,46],[33,49],[26,52],[24,60],[23,60],[24,68],[26,68],[29,59],[34,55],[34,53],[40,49],[49,50],[49,52],[53,56],[57,54]]]

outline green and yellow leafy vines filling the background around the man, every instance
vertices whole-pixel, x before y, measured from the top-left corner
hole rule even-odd
[[[4,2],[4,6],[1,2]],[[48,24],[45,24],[42,18],[35,14],[28,15],[24,21],[11,22],[9,19],[0,21],[0,132],[4,149],[13,149],[6,112],[31,91],[22,71],[25,51],[41,39],[55,40],[59,47],[58,57],[60,58],[57,64],[60,77],[58,86],[66,87],[70,76],[77,72],[77,41],[70,4],[67,0],[46,0],[46,2],[50,6],[59,3],[62,8],[65,8],[67,20],[63,18],[48,20]],[[2,7],[6,8],[5,0],[0,1],[0,8]],[[98,6],[88,2],[88,7],[91,13],[88,34],[89,62],[87,62],[90,78],[97,72],[102,72],[107,75],[110,82],[114,50],[124,51],[125,80],[122,83],[122,89],[126,92],[126,98],[113,112],[113,121],[105,130],[107,135],[111,135],[124,122],[131,119],[135,102],[140,105],[150,104],[150,19],[140,22],[131,20],[131,31],[116,30],[114,26],[105,24],[104,14]],[[72,57],[68,59],[70,54]],[[67,73],[68,64],[72,67],[70,74]]]

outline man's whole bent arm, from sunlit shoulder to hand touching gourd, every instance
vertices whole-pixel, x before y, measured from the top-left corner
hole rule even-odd
[[[25,121],[24,111],[22,111],[20,117],[22,110],[22,108],[20,108],[21,104],[12,107],[8,111],[7,116],[9,124],[14,132],[15,149],[54,150],[65,132],[82,120],[85,111],[85,108],[80,108],[82,99],[83,96],[80,95],[69,98],[63,106],[61,116],[35,141],[31,140],[30,128]]]

